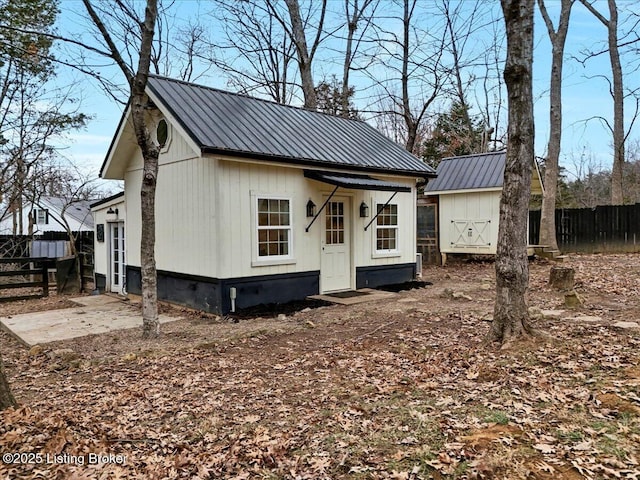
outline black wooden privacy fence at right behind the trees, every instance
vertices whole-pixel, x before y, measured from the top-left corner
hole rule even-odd
[[[540,211],[529,212],[529,243],[538,245]],[[640,203],[556,210],[556,240],[563,252],[640,252]]]

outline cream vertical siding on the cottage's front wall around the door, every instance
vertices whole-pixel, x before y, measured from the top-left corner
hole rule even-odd
[[[306,216],[306,204],[311,199],[319,211],[333,191],[333,186],[304,178],[300,168],[265,166],[237,161],[219,163],[218,207],[220,213],[219,275],[221,278],[250,277],[321,269],[323,247],[323,212],[308,232],[312,218]],[[372,192],[338,189],[336,197],[346,200],[349,209],[347,237],[352,247],[349,261],[353,267],[410,263],[415,261],[415,180],[388,179],[413,187],[411,193],[398,193],[393,204],[398,205],[398,249],[389,253],[375,253],[375,222],[365,232],[376,204],[384,204],[393,192]],[[282,198],[291,201],[293,252],[289,262],[270,265],[256,261],[255,205],[257,198]],[[362,201],[369,205],[369,217],[361,218]],[[224,254],[223,252],[233,252]],[[355,287],[355,275],[352,279]]]

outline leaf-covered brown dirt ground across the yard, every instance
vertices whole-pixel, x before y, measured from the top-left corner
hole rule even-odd
[[[0,450],[23,454],[0,478],[638,479],[640,255],[571,256],[574,310],[553,265],[530,264],[528,298],[549,337],[508,351],[483,343],[492,263],[284,319],[166,306],[185,318],[152,341],[134,329],[29,352],[0,333],[21,404],[0,413]]]

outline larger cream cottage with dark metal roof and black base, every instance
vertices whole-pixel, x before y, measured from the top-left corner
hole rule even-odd
[[[414,277],[416,184],[435,171],[400,145],[362,121],[155,75],[147,95],[161,146],[160,299],[227,313]],[[143,161],[130,115],[100,174],[124,180],[126,262],[112,253],[98,274],[124,268],[125,291],[139,294]],[[122,241],[115,222],[96,222],[107,245]]]

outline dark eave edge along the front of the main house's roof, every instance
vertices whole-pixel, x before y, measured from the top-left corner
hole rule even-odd
[[[270,162],[283,163],[287,165],[297,165],[302,168],[316,167],[316,168],[324,168],[324,169],[332,169],[332,170],[340,170],[340,171],[398,175],[402,177],[413,177],[413,178],[416,178],[416,177],[435,178],[436,177],[435,172],[429,172],[424,170],[411,170],[411,169],[398,170],[398,169],[392,169],[392,168],[371,167],[371,166],[365,166],[365,165],[325,162],[322,160],[314,160],[314,159],[308,159],[308,158],[292,158],[292,157],[282,157],[278,155],[269,155],[265,153],[228,150],[228,149],[223,149],[219,147],[202,147],[202,153],[210,154],[210,155],[226,155],[230,157],[247,158],[252,160],[265,160]]]

